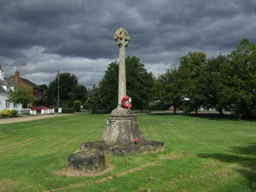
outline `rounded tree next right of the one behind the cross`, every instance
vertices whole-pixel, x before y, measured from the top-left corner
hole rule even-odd
[[[158,77],[157,95],[159,103],[174,107],[174,114],[184,100],[184,95],[190,87],[192,73],[188,68],[170,68]]]

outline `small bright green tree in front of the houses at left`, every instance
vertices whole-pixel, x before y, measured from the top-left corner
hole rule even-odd
[[[33,89],[28,87],[15,89],[14,92],[9,93],[9,100],[12,103],[22,104],[22,108],[27,108],[28,104],[34,101]]]

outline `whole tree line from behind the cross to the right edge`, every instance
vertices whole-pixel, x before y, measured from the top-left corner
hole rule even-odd
[[[157,78],[137,57],[126,57],[126,90],[133,109],[183,113],[200,109],[231,111],[240,116],[256,112],[256,44],[244,38],[230,54],[207,59],[203,52],[181,56],[179,66]],[[110,63],[99,83],[93,86],[93,113],[109,113],[117,106],[118,62]]]

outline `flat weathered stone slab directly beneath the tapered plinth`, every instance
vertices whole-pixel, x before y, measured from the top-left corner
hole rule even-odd
[[[113,155],[133,155],[143,152],[155,152],[164,150],[164,142],[162,141],[144,141],[137,144],[131,143],[125,146],[118,146],[100,141],[93,141],[80,144],[80,150],[98,150],[104,154]]]

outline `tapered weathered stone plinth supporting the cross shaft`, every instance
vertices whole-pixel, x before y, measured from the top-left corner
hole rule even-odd
[[[130,109],[116,108],[109,115],[101,141],[114,145],[130,145],[144,136],[139,128],[138,117]]]

